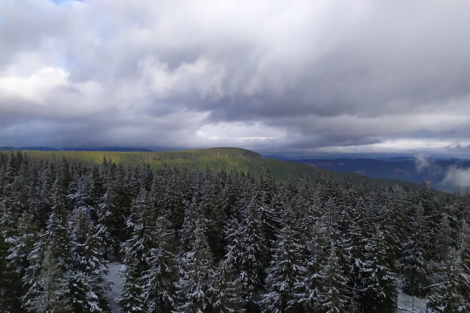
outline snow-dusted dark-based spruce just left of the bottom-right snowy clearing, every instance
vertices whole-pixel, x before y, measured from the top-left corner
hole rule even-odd
[[[360,299],[364,312],[395,313],[398,300],[398,282],[387,263],[385,238],[376,233],[366,245],[366,263],[361,271],[363,294]]]

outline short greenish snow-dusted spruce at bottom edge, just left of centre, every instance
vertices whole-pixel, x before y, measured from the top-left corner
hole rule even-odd
[[[245,300],[241,296],[241,281],[236,271],[235,257],[230,248],[216,271],[215,287],[217,291],[213,312],[245,312]]]

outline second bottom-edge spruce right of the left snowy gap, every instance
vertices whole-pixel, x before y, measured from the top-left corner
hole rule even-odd
[[[176,303],[178,268],[174,233],[165,215],[156,218],[150,236],[155,246],[145,258],[147,269],[142,273],[142,294],[149,313],[169,313]]]

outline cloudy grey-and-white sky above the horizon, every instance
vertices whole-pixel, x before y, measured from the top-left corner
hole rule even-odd
[[[0,146],[470,156],[468,0],[0,0]]]

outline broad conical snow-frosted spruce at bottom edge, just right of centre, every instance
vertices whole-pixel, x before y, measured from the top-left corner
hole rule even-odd
[[[284,218],[282,224],[274,247],[271,270],[266,277],[266,292],[260,301],[265,313],[295,312],[302,306],[307,290],[303,256],[305,244],[299,242],[297,230],[291,225],[289,217]]]

